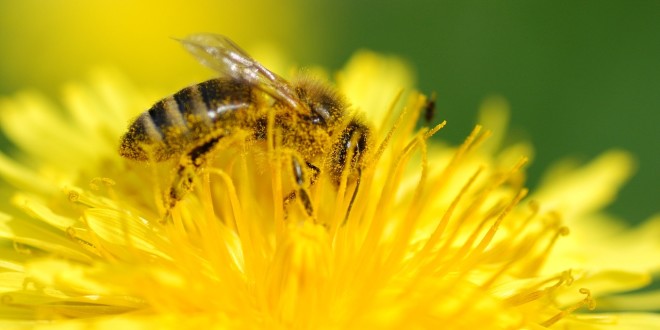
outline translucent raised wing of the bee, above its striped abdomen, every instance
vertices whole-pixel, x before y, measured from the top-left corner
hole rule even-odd
[[[229,38],[219,34],[193,34],[177,40],[207,67],[222,75],[245,80],[293,108],[301,107],[286,80],[252,59]]]

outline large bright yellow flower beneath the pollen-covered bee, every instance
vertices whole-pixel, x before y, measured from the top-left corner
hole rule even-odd
[[[416,128],[426,98],[399,60],[358,53],[337,81],[374,139],[355,200],[346,180],[309,187],[314,219],[299,199],[283,204],[282,132],[218,151],[164,219],[170,170],[116,151],[148,97],[103,74],[68,86],[64,111],[35,94],[3,100],[17,148],[0,156],[0,326],[660,326],[618,313],[657,310],[657,293],[615,305],[660,268],[660,219],[621,232],[597,213],[628,176],[627,154],[561,166],[528,196],[531,148],[501,145],[502,100],[484,104],[488,129],[453,147],[430,141],[444,123]],[[589,313],[601,297],[605,313]]]

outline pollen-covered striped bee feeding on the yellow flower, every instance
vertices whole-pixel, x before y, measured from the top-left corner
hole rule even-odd
[[[291,170],[297,187],[284,202],[298,197],[312,216],[305,187],[321,173],[327,173],[335,186],[345,175],[347,181],[355,182],[350,212],[365,166],[370,130],[347,112],[344,98],[309,77],[286,81],[225,36],[196,34],[179,41],[220,75],[156,102],[130,124],[119,147],[121,156],[135,161],[178,158],[171,186],[164,191],[167,211],[192,190],[195,177],[212,160],[214,151],[222,148],[222,141],[245,132],[248,134],[240,136],[246,140],[266,140],[272,112],[270,120],[281,132],[281,146],[295,151]]]

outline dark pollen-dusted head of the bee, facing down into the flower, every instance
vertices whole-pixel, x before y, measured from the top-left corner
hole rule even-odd
[[[369,148],[369,128],[356,119],[351,120],[340,132],[333,145],[330,156],[330,174],[336,185],[341,182],[344,171],[348,171],[348,181],[364,167],[365,156]]]

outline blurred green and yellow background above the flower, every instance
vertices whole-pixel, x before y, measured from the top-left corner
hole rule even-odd
[[[210,73],[169,37],[201,31],[331,69],[361,48],[397,54],[437,92],[441,138],[461,141],[499,94],[536,148],[532,188],[555,160],[621,148],[638,171],[609,210],[631,223],[660,210],[660,1],[27,0],[0,1],[0,18],[5,96],[56,99],[98,65],[175,91]]]

